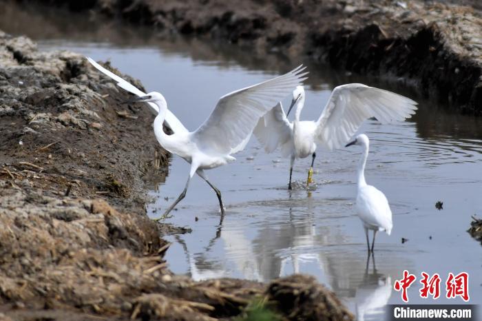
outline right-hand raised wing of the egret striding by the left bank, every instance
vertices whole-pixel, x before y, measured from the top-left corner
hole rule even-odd
[[[238,152],[260,117],[306,79],[303,70],[300,65],[282,76],[222,96],[207,121],[193,132],[193,140],[209,152]]]

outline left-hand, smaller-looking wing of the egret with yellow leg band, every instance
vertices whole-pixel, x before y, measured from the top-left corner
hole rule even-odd
[[[277,103],[269,112],[266,112],[258,121],[253,134],[258,138],[264,150],[271,153],[286,143],[291,142],[293,123],[290,123],[283,106]]]

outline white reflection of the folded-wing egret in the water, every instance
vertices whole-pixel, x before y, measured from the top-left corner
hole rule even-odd
[[[370,258],[373,262],[372,273],[369,271]],[[380,320],[385,305],[392,293],[392,278],[377,272],[375,256],[368,254],[363,282],[359,284],[355,295],[355,307],[358,321]],[[377,318],[373,318],[374,315]],[[367,317],[367,318],[366,318]]]

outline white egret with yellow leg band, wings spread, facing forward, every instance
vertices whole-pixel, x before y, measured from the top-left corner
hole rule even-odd
[[[317,144],[328,150],[343,147],[366,119],[376,117],[381,123],[403,121],[417,110],[412,99],[361,83],[349,83],[335,87],[317,121],[300,121],[304,99],[303,87],[296,87],[287,114],[296,105],[295,121],[288,120],[278,103],[260,118],[253,132],[266,152],[280,147],[282,156],[290,156],[289,189],[295,159],[309,155],[312,159],[306,185],[311,183]]]

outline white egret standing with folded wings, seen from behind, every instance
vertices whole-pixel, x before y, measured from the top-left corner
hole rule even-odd
[[[357,172],[357,200],[356,208],[359,218],[363,222],[363,227],[366,234],[366,245],[368,246],[368,253],[370,253],[370,242],[368,242],[368,230],[373,230],[373,241],[371,251],[375,245],[375,235],[377,231],[386,231],[386,234],[392,233],[392,210],[388,205],[388,200],[379,189],[372,185],[368,185],[365,180],[365,165],[366,158],[368,158],[368,149],[370,141],[365,134],[359,134],[354,141],[346,144],[362,145],[364,153],[360,158]]]

